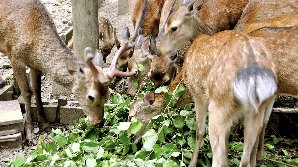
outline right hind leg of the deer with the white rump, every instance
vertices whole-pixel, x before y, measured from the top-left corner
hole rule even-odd
[[[244,116],[244,145],[240,167],[256,166],[257,145],[263,128],[264,113],[267,104],[268,100],[259,107],[259,111],[247,111],[248,113]]]

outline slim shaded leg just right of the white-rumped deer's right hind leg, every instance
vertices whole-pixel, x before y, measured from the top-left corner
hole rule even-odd
[[[274,100],[275,100],[275,96],[271,97],[269,99],[269,102],[266,106],[265,109],[265,114],[264,114],[264,123],[263,123],[263,127],[262,130],[260,132],[260,136],[259,136],[259,143],[257,146],[257,167],[260,167],[263,163],[264,163],[264,136],[265,136],[265,128],[266,125],[269,121],[269,117],[272,111],[272,106],[274,104]]]

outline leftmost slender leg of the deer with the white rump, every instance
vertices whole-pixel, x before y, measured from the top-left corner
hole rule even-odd
[[[206,127],[206,117],[207,117],[207,105],[203,101],[195,97],[195,115],[196,115],[196,137],[195,137],[195,148],[193,149],[193,155],[191,156],[189,167],[197,165],[197,159],[199,154],[199,149],[201,146],[201,141],[204,136]]]

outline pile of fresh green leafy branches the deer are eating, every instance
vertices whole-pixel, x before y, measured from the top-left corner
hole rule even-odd
[[[150,83],[143,88],[137,98],[153,89]],[[166,92],[166,88],[159,88],[158,92]],[[196,121],[194,112],[188,104],[183,109],[173,108],[173,99],[179,99],[185,88],[178,85],[173,94],[167,93],[166,111],[150,120],[150,129],[142,137],[139,144],[133,143],[134,135],[142,127],[142,123],[135,118],[127,122],[128,113],[133,99],[126,95],[114,93],[111,101],[115,106],[105,106],[103,128],[94,128],[87,118],[73,121],[68,129],[52,129],[53,142],[45,143],[40,137],[36,150],[32,150],[25,157],[19,156],[10,160],[9,167],[15,166],[63,166],[63,167],[94,167],[94,166],[187,166],[192,156],[195,143]],[[118,104],[119,101],[124,101]],[[211,166],[212,150],[207,133],[201,142],[198,156],[200,166]],[[232,136],[232,135],[231,135]],[[274,148],[278,141],[271,136],[272,141],[266,142],[267,148]],[[229,139],[229,163],[238,166],[243,151],[243,143]],[[291,144],[291,143],[289,143]],[[298,164],[298,158],[288,156],[286,150],[283,162]],[[265,152],[266,153],[266,152]],[[267,155],[267,154],[266,154]],[[271,155],[271,158],[272,157]],[[280,163],[266,161],[264,166],[282,166]]]

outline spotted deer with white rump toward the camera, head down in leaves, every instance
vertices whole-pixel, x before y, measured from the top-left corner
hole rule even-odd
[[[255,154],[257,147],[252,146],[258,141],[265,107],[277,88],[274,63],[261,39],[232,30],[201,35],[189,48],[182,71],[168,91],[173,93],[179,82],[186,91],[179,101],[175,99],[174,107],[184,106],[191,99],[196,106],[196,141],[189,166],[196,165],[208,104],[212,166],[229,166],[227,136],[232,123],[242,114],[245,127],[250,128],[245,130],[240,166],[253,166],[255,157],[250,155]],[[129,118],[134,116],[144,125],[136,133],[135,142],[141,139],[150,118],[164,111],[165,97],[166,93],[156,94],[155,98],[154,93],[149,93],[132,104]]]

